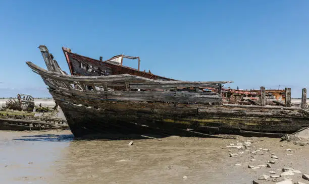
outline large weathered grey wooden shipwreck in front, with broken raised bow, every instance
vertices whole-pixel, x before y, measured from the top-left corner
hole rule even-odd
[[[232,81],[160,80],[159,76],[130,72],[72,76],[60,69],[45,46],[39,48],[48,70],[31,62],[27,65],[48,86],[75,137],[129,137],[147,132],[199,137],[220,133],[281,137],[309,126],[305,107],[290,105],[290,90],[286,91],[285,106],[266,105],[264,87],[260,91],[260,105],[224,104],[222,84]],[[70,62],[71,58],[72,55]],[[78,57],[80,63],[86,63],[85,59],[89,60]],[[92,69],[101,70],[95,66]],[[72,67],[70,70],[76,71]]]

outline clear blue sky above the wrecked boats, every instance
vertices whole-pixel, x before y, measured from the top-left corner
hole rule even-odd
[[[179,80],[280,85],[292,97],[309,87],[309,1],[0,3],[0,97],[50,96],[25,64],[45,68],[41,44],[67,72],[62,46],[93,58],[140,56],[142,70]]]

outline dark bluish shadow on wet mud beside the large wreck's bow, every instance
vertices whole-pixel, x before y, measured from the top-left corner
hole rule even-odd
[[[55,134],[44,134],[34,136],[22,136],[19,141],[50,141],[50,142],[69,142],[74,140],[73,135],[55,135]]]

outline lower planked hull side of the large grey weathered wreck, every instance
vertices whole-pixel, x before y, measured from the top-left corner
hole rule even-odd
[[[67,96],[55,90],[50,93],[64,111],[75,137],[151,132],[191,136],[187,129],[206,134],[285,134],[309,126],[309,118],[293,107],[174,104]]]

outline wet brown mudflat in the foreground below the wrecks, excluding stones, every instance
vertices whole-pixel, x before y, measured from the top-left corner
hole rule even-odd
[[[226,148],[246,140],[258,142],[244,150]],[[133,140],[129,146],[130,141],[74,140],[70,131],[0,131],[0,183],[252,183],[270,170],[280,175],[284,166],[309,173],[309,146],[280,139],[171,136]],[[270,151],[249,153],[260,147]],[[267,164],[271,152],[279,157],[272,168],[248,168]],[[252,157],[256,160],[250,161]],[[120,161],[130,159],[136,161]],[[301,174],[289,177],[306,183]]]

